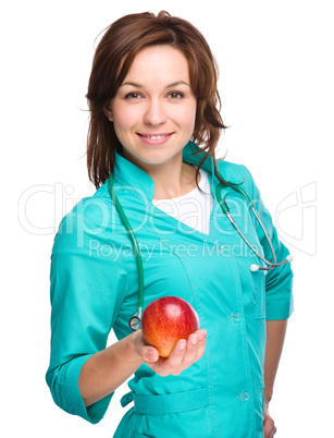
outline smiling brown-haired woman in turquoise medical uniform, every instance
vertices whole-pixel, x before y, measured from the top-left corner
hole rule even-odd
[[[293,312],[293,275],[286,261],[258,269],[265,266],[260,256],[279,264],[288,252],[248,170],[215,160],[225,125],[210,48],[166,12],[124,16],[96,50],[87,98],[97,192],[63,218],[52,251],[47,381],[55,403],[98,423],[135,374],[122,399],[134,407],[115,437],[272,437],[268,404]],[[273,256],[236,187],[260,212]],[[140,279],[113,191],[139,244],[144,308],[176,295],[199,315],[201,329],[168,358],[128,325]],[[111,329],[119,341],[106,348]]]

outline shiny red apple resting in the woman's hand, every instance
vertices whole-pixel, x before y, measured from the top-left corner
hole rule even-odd
[[[177,296],[152,301],[143,313],[143,338],[162,357],[169,357],[180,339],[188,339],[198,329],[196,311],[187,301]]]

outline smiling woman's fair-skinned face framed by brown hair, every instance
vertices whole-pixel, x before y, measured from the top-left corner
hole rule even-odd
[[[185,56],[170,46],[143,49],[106,114],[124,157],[136,166],[148,170],[151,165],[182,162],[196,117]]]

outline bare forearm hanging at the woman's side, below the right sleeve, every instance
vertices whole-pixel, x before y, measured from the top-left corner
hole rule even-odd
[[[287,319],[265,323],[264,401],[270,402],[286,332]]]

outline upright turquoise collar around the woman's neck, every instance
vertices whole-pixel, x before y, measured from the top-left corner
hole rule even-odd
[[[201,153],[194,155],[197,150]],[[183,161],[190,165],[198,166],[202,160],[206,151],[193,142],[188,142],[183,149]],[[201,169],[209,173],[209,180],[211,185],[211,193],[214,193],[218,180],[214,177],[214,165],[212,157],[208,157],[202,163]],[[154,195],[154,182],[151,177],[144,170],[138,168],[133,162],[128,161],[122,156],[122,147],[119,145],[115,149],[114,161],[114,185],[121,186],[134,186],[146,193],[148,199],[151,202]],[[214,183],[213,181],[217,180]]]

